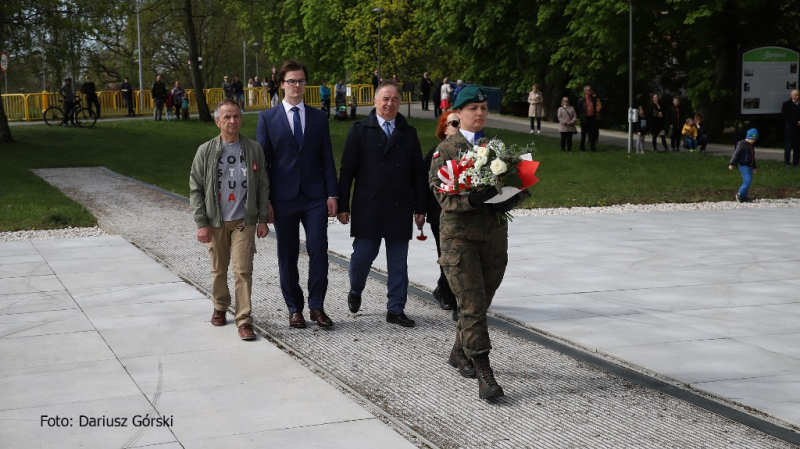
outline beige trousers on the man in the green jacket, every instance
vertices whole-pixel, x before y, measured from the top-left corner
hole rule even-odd
[[[228,310],[231,292],[228,289],[228,265],[233,261],[236,294],[236,327],[252,324],[250,293],[253,289],[253,255],[256,252],[256,227],[245,226],[244,220],[223,221],[221,228],[211,227],[211,243],[206,243],[211,260],[211,296],[214,308]]]

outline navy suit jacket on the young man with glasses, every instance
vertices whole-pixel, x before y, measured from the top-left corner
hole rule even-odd
[[[282,102],[258,114],[256,140],[264,148],[270,201],[292,200],[301,186],[309,199],[338,196],[328,116],[308,105],[305,110],[302,148],[297,148]]]

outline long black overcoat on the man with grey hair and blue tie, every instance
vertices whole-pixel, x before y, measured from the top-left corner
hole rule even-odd
[[[350,236],[411,239],[413,214],[426,208],[426,175],[417,130],[397,114],[391,140],[373,109],[347,133],[339,176],[339,212],[350,212]]]

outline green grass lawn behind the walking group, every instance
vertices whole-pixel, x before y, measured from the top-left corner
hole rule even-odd
[[[423,153],[432,148],[433,120],[411,119]],[[341,158],[352,122],[331,120],[334,158]],[[256,116],[245,115],[242,132],[255,138]],[[197,147],[219,133],[214,124],[100,121],[93,129],[44,125],[12,128],[16,143],[3,145],[5,182],[0,188],[0,231],[91,226],[96,220],[80,204],[33,175],[32,168],[105,166],[111,170],[188,196],[189,166]],[[562,153],[558,140],[488,129],[506,143],[536,144],[541,161],[526,207],[604,206],[659,202],[730,201],[741,183],[727,158],[678,154],[628,155],[627,149],[598,146],[597,153]],[[756,157],[758,154],[756,153]],[[759,161],[753,198],[800,197],[800,171],[781,161]]]

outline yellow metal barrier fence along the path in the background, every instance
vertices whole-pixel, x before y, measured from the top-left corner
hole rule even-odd
[[[347,97],[347,104],[354,100],[358,106],[371,106],[374,96],[374,88],[371,84],[348,84],[350,96]],[[306,86],[305,102],[314,107],[320,107],[320,86]],[[213,108],[225,98],[222,89],[205,89],[206,103],[209,108]],[[197,113],[197,101],[195,100],[194,90],[186,89],[189,97],[189,113]],[[281,92],[279,91],[279,97]],[[32,121],[42,120],[44,111],[48,107],[61,106],[61,95],[57,92],[41,92],[32,94],[8,94],[2,95],[3,107],[9,121]],[[128,107],[120,91],[101,91],[97,93],[97,100],[100,102],[101,117],[124,117],[128,115]],[[83,100],[82,106],[86,106]],[[403,93],[402,102],[410,103],[411,94]],[[267,88],[246,87],[244,93],[244,109],[264,110],[272,106],[271,99],[267,93]],[[153,99],[150,91],[135,91],[133,93],[133,110],[137,115],[149,115],[153,113]]]

